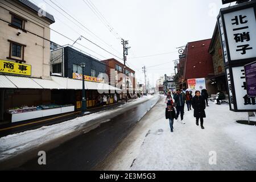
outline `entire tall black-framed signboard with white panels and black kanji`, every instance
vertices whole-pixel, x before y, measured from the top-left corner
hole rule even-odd
[[[251,1],[221,9],[217,17],[232,111],[256,111],[255,97],[247,95],[244,67],[256,60],[255,12],[256,1]]]

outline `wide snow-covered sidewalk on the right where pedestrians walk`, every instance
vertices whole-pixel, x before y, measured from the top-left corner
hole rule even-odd
[[[162,97],[98,169],[256,170],[256,126],[236,122],[247,113],[210,101],[202,130],[185,106],[185,124],[175,120],[171,133],[165,107]]]

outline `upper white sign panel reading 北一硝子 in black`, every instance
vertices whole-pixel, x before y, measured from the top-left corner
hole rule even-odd
[[[256,57],[256,19],[254,8],[233,11],[223,15],[228,42],[222,41],[222,47],[228,48],[230,61]],[[225,55],[225,54],[224,54]]]

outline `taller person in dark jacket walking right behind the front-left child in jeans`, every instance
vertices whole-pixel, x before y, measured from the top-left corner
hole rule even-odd
[[[185,105],[185,94],[180,93],[180,89],[176,90],[176,95],[174,96],[174,100],[175,100],[175,106],[176,106],[176,118],[179,118],[179,114],[180,114],[180,119],[181,122],[183,124],[185,124],[185,122],[183,121],[183,115],[184,115],[184,105]]]

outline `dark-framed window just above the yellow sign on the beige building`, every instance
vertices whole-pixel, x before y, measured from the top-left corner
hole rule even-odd
[[[10,51],[9,57],[6,58],[10,60],[15,60],[20,63],[26,63],[26,61],[24,61],[24,48],[26,47],[26,45],[13,42],[11,40],[8,40],[8,42],[10,42]]]

